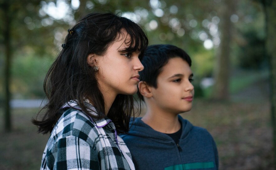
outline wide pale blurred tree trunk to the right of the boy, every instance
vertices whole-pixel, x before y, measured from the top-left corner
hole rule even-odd
[[[215,88],[213,97],[215,99],[227,99],[229,96],[229,70],[230,70],[230,45],[232,23],[230,17],[233,11],[232,0],[222,0],[220,15],[220,46],[217,52],[215,66]]]

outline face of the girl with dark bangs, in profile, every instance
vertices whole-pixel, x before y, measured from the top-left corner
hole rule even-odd
[[[102,93],[116,96],[131,95],[137,92],[139,72],[144,69],[138,56],[140,52],[123,52],[129,47],[130,36],[123,34],[109,46],[105,55],[95,55],[99,67],[96,77]]]

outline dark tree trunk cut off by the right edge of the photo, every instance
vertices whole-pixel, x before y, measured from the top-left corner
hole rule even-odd
[[[264,0],[266,15],[266,49],[269,58],[270,88],[271,88],[271,116],[273,125],[274,157],[276,157],[276,2],[275,0]],[[276,161],[274,162],[276,163]]]

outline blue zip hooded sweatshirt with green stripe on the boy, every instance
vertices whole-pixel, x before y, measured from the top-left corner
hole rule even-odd
[[[137,170],[217,170],[218,152],[210,133],[178,116],[182,134],[173,139],[135,118],[127,134],[120,135]]]

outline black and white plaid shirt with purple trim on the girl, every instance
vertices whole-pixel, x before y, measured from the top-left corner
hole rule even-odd
[[[95,110],[91,104],[85,105]],[[45,147],[40,169],[134,169],[130,152],[110,119],[89,118],[77,110],[80,108],[74,101],[63,108],[65,111]]]

